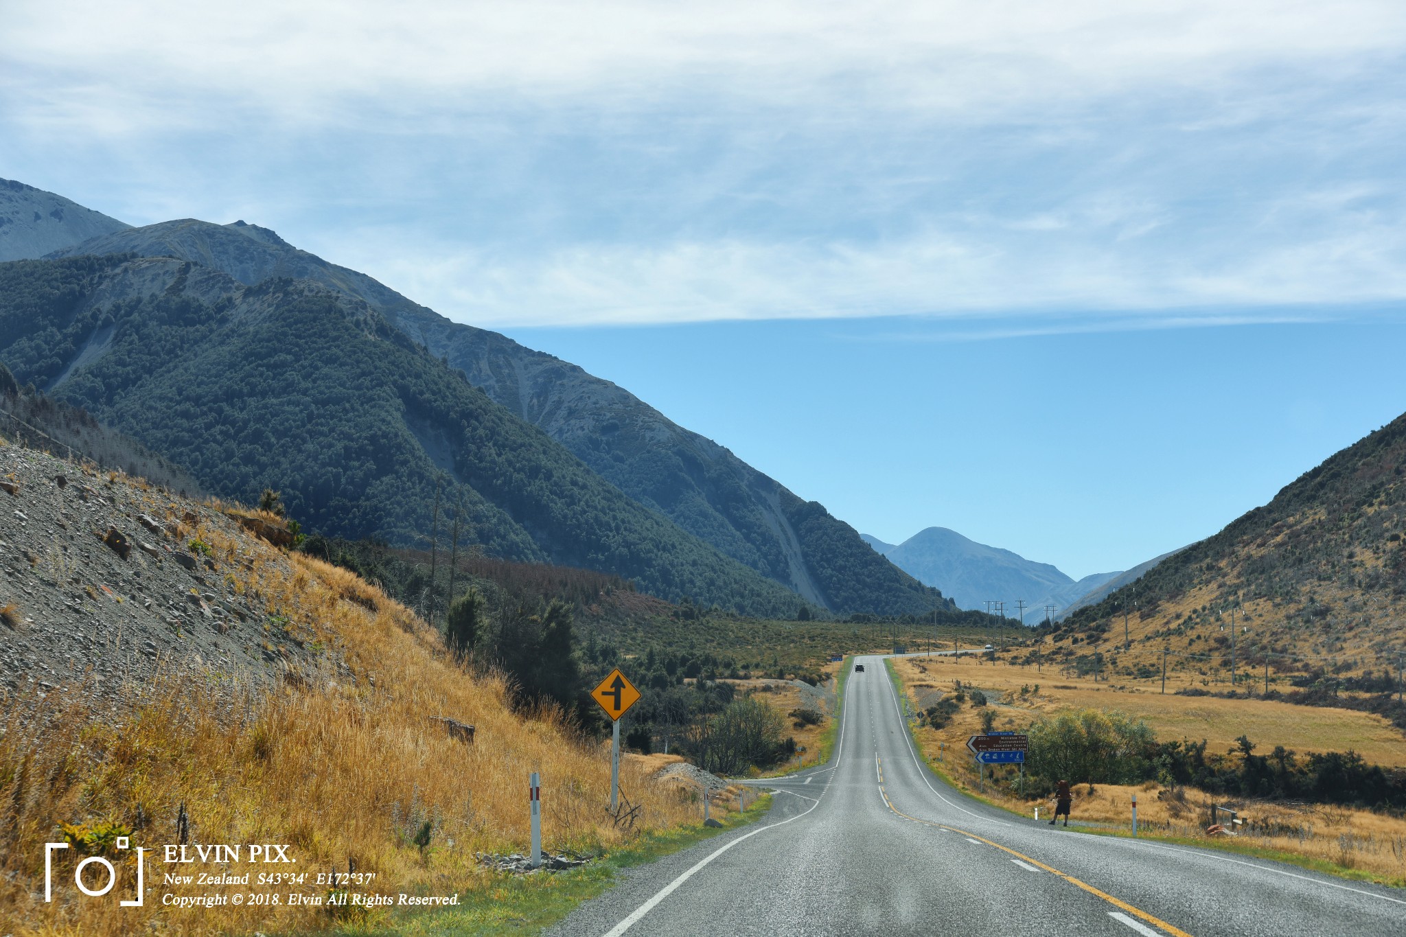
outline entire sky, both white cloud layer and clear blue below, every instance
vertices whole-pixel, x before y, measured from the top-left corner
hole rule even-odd
[[[1399,3],[3,3],[0,174],[243,218],[1071,575],[1406,410]]]

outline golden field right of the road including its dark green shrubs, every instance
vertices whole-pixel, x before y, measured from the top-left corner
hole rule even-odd
[[[1208,707],[980,660],[903,659],[890,670],[928,763],[991,804],[1050,816],[1063,778],[1074,784],[1074,825],[1094,832],[1129,833],[1136,795],[1142,836],[1406,882],[1406,773],[1393,767],[1406,764],[1406,739],[1379,716],[1316,709],[1331,721],[1305,723],[1284,702]],[[1254,712],[1240,719],[1237,708]],[[1024,778],[1014,766],[979,773],[966,739],[991,729],[1031,735]],[[1364,730],[1388,767],[1346,750]]]

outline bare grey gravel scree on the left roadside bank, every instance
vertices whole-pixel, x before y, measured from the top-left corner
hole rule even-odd
[[[0,684],[105,697],[159,670],[270,683],[314,664],[242,586],[256,561],[287,565],[208,504],[0,443]]]

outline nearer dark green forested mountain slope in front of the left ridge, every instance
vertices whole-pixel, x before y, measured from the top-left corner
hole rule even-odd
[[[790,617],[800,600],[630,500],[367,303],[246,287],[172,258],[0,264],[0,360],[245,502],[280,489],[319,531],[419,542],[461,502],[467,542],[666,598]]]

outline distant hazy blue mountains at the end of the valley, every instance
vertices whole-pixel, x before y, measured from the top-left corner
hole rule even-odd
[[[1017,600],[1025,600],[1024,622],[1039,624],[1049,615],[1062,618],[1073,608],[1104,594],[1111,582],[1136,579],[1161,558],[1132,570],[1092,573],[1074,580],[1049,563],[1025,559],[998,546],[967,539],[946,527],[918,531],[901,544],[886,544],[860,534],[875,551],[908,572],[918,582],[941,589],[959,608],[986,610],[988,601],[1004,601],[1005,614],[1017,617]],[[1047,610],[1046,607],[1053,605]]]

